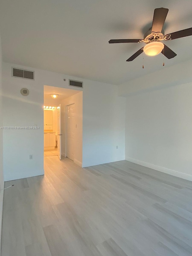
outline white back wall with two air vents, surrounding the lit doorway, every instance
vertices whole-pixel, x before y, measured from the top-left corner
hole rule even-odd
[[[11,77],[11,67],[34,70],[35,81]],[[6,181],[44,173],[44,85],[72,89],[68,86],[69,78],[83,81],[83,89],[78,88],[83,91],[82,166],[125,158],[125,98],[118,96],[117,86],[10,63],[3,63],[2,74],[4,126],[36,124],[40,127],[39,130],[5,131]],[[29,96],[20,94],[22,87],[29,89]],[[30,154],[33,154],[33,160],[29,160]]]

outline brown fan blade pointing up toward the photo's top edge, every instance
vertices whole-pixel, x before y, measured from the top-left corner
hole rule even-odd
[[[161,32],[169,9],[157,8],[153,15],[152,32]]]

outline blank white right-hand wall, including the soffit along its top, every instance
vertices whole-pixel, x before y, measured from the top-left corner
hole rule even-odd
[[[188,61],[119,86],[126,160],[192,180],[191,70]]]

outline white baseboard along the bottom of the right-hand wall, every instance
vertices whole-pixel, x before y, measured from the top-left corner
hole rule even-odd
[[[149,163],[146,163],[146,162],[134,159],[134,158],[130,158],[130,157],[125,157],[125,160],[135,163],[135,164],[140,164],[142,166],[145,166],[145,167],[157,170],[157,171],[160,171],[162,173],[167,173],[167,174],[170,174],[170,175],[182,178],[182,179],[187,179],[189,181],[192,181],[192,175],[189,175],[189,174],[185,174],[185,173],[181,173],[181,172],[174,171],[171,169],[167,169],[167,168],[155,165],[155,164],[149,164]]]

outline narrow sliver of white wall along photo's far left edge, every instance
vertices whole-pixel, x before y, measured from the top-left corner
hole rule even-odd
[[[3,126],[3,112],[2,112],[2,55],[1,55],[1,36],[0,36],[0,127]],[[0,255],[1,255],[1,225],[3,213],[3,130],[0,129]]]

